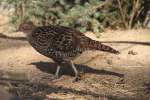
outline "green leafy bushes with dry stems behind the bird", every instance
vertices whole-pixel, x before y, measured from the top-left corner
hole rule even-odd
[[[131,29],[145,20],[148,0],[1,0],[14,8],[12,23],[24,20],[39,25],[59,24],[82,32],[103,31],[105,28]]]

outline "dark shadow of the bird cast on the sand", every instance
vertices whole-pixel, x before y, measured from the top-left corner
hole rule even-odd
[[[57,66],[55,63],[51,62],[33,62],[32,65],[35,65],[38,69],[40,69],[43,72],[49,73],[49,74],[55,74]],[[86,65],[79,65],[75,64],[75,67],[79,72],[83,73],[93,73],[93,74],[99,74],[99,75],[113,75],[117,77],[124,77],[124,74],[117,73],[113,71],[107,71],[107,70],[99,70],[94,69],[92,67],[86,66]],[[74,71],[72,67],[69,64],[64,64],[60,69],[60,75],[71,75],[74,76]]]

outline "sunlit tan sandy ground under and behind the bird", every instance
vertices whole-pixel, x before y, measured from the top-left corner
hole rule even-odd
[[[119,55],[84,52],[74,60],[81,80],[73,83],[69,65],[62,67],[58,80],[52,80],[56,66],[51,59],[37,53],[27,41],[0,38],[0,74],[16,73],[15,78],[35,83],[16,90],[24,99],[150,100],[150,29],[107,31],[100,39],[92,33],[85,35],[99,41],[128,43],[105,43],[119,50]]]

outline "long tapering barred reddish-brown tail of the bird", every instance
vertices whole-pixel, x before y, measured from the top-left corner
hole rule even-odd
[[[119,51],[113,49],[112,47],[106,46],[104,44],[101,44],[99,41],[94,41],[92,39],[88,40],[88,42],[85,44],[85,47],[91,50],[100,50],[104,52],[119,54]]]

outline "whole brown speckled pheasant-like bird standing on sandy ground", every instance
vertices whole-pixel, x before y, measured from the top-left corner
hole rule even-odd
[[[99,41],[86,37],[80,31],[65,26],[36,26],[33,22],[23,22],[18,31],[24,32],[31,46],[42,55],[53,59],[57,64],[55,77],[63,63],[69,63],[75,73],[75,79],[80,77],[72,60],[86,50],[99,50],[118,54],[119,51],[101,44]]]

